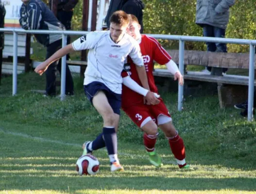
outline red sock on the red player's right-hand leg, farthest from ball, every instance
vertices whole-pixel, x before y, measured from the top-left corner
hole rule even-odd
[[[185,146],[183,143],[182,138],[179,136],[178,131],[174,137],[167,138],[171,147],[171,151],[174,157],[177,160],[177,163],[180,168],[186,166],[187,163],[185,161],[186,154],[185,154]]]

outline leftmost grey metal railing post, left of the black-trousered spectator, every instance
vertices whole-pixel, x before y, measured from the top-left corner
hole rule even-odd
[[[18,34],[13,32],[13,96],[17,94]]]

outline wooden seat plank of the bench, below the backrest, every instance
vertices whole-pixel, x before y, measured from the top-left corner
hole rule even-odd
[[[173,75],[169,72],[164,72],[163,70],[158,71],[157,69],[153,72],[154,76],[173,78]],[[207,81],[215,83],[224,83],[224,84],[234,84],[234,85],[248,85],[249,80],[245,78],[233,78],[225,76],[214,76],[214,75],[184,75],[185,80],[194,80],[194,81]],[[256,85],[256,81],[254,82]]]

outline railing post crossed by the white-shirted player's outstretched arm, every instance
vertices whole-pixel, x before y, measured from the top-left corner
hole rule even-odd
[[[67,35],[62,34],[62,48],[67,45]],[[60,99],[61,101],[65,100],[65,90],[66,90],[66,62],[67,56],[61,58],[61,88],[60,88]]]

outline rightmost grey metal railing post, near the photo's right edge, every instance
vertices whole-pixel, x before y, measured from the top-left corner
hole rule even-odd
[[[253,121],[254,104],[254,60],[255,46],[250,44],[250,62],[249,62],[249,91],[248,91],[248,121]]]

